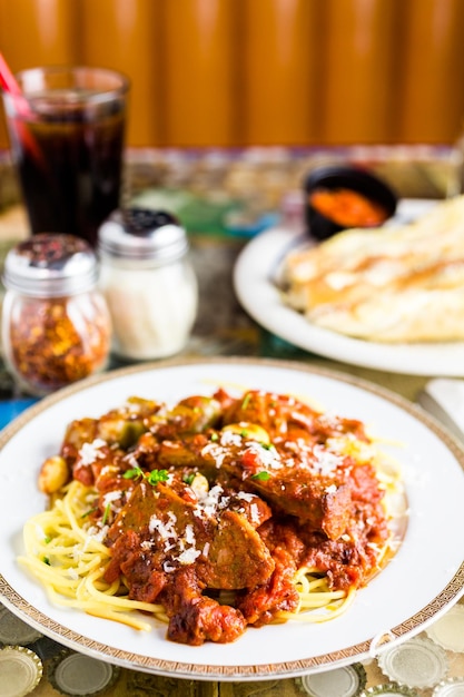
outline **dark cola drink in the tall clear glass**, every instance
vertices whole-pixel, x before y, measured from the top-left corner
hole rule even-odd
[[[99,226],[119,207],[127,90],[97,88],[38,90],[27,108],[6,97],[32,234],[68,233],[95,246]]]

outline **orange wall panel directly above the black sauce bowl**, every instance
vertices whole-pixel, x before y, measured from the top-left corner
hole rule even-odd
[[[397,0],[325,0],[325,143],[392,140],[398,7]]]

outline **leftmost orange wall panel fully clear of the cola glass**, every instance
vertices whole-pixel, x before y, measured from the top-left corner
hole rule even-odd
[[[234,145],[237,0],[160,0],[164,143]]]

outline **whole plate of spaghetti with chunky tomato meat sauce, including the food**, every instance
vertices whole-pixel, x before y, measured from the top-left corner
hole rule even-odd
[[[209,680],[324,670],[463,593],[463,451],[347,375],[130,366],[34,404],[0,445],[2,601],[117,665]]]

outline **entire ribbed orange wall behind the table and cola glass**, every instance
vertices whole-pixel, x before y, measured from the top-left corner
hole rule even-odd
[[[134,147],[447,145],[463,122],[464,0],[0,0],[0,47],[14,71],[124,71]]]

